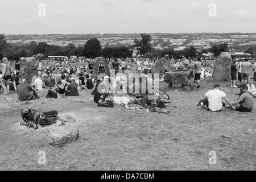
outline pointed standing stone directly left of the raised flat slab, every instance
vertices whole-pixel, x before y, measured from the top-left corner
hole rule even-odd
[[[154,75],[155,73],[159,74],[159,78],[161,78],[165,72],[172,72],[174,68],[172,67],[169,60],[165,57],[160,59],[158,63],[154,65],[154,68],[151,69],[151,73]]]

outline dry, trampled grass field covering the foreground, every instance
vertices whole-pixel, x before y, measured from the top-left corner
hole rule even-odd
[[[191,92],[167,91],[170,114],[97,107],[89,101],[89,90],[63,100],[46,98],[42,90],[39,100],[28,102],[15,102],[14,92],[1,93],[0,170],[256,170],[255,108],[251,113],[211,113],[196,107],[217,83],[226,85],[221,89],[230,101],[237,100],[234,94],[240,90],[228,82],[203,80]],[[160,82],[160,88],[167,86]],[[51,126],[28,130],[19,125],[26,108],[71,115],[79,139],[50,146],[46,128]],[[38,164],[39,151],[46,152],[46,165]],[[209,164],[211,151],[217,154],[216,165]]]

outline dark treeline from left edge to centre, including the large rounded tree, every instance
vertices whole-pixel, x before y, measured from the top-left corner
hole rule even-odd
[[[0,40],[0,59],[3,55],[10,60],[19,60],[20,57],[31,57],[38,53],[48,56],[85,56],[87,58],[94,58],[98,56],[110,57],[131,57],[133,51],[125,46],[102,48],[100,41],[97,39],[90,39],[84,46],[76,47],[74,44],[67,46],[54,46],[47,43],[31,42],[29,44],[11,44],[6,43],[2,37],[2,44]],[[2,45],[2,46],[1,46]],[[1,48],[2,47],[2,48]]]

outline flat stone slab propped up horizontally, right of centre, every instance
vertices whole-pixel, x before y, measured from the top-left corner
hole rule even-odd
[[[188,85],[193,76],[193,69],[188,71],[167,72],[164,81],[168,84]]]

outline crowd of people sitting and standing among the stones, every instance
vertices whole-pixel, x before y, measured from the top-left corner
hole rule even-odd
[[[17,101],[30,101],[38,99],[39,96],[37,92],[40,92],[40,90],[43,89],[48,89],[46,95],[47,98],[66,98],[67,96],[75,97],[79,96],[80,90],[89,89],[91,90],[90,93],[94,96],[94,102],[96,102],[98,106],[106,104],[105,102],[108,101],[106,99],[107,97],[111,98],[111,101],[113,101],[115,104],[125,107],[133,104],[148,106],[148,99],[146,97],[141,98],[141,100],[130,96],[118,98],[109,93],[106,94],[104,92],[99,92],[98,86],[100,84],[102,89],[109,90],[109,88],[104,88],[104,86],[109,85],[110,78],[108,76],[103,78],[98,78],[97,76],[93,77],[92,74],[93,71],[96,71],[97,75],[100,73],[105,73],[105,61],[100,61],[97,68],[94,68],[94,59],[86,59],[85,61],[88,63],[86,66],[72,66],[69,63],[67,65],[57,63],[54,65],[48,65],[46,69],[42,68],[42,61],[39,61],[38,72],[30,81],[31,84],[27,84],[26,79],[20,78],[19,61],[15,61],[15,69],[10,68],[10,63],[7,57],[4,57],[2,61],[0,90],[3,90],[3,94],[10,94],[10,88],[14,89],[17,94]],[[110,68],[115,70],[115,76],[117,77],[119,73],[125,73],[126,70],[126,73],[130,73],[131,67],[135,67],[138,74],[147,75],[147,73],[151,73],[151,68],[154,67],[154,64],[155,60],[143,59],[141,57],[135,57],[133,59],[111,58],[107,63]],[[253,84],[249,85],[248,79],[250,68],[252,66],[254,71],[254,82]],[[200,78],[208,78],[212,76],[209,69],[205,70],[203,68],[203,63],[200,57],[197,57],[191,61],[185,56],[182,56],[182,60],[174,61],[174,72],[188,71],[189,68],[193,68],[194,70],[194,81],[197,84],[197,88],[200,88]],[[240,60],[233,59],[232,65],[230,66],[230,75],[232,78],[231,86],[233,88],[238,87],[236,86],[238,73],[238,80],[240,81],[241,89],[240,99],[237,102],[230,102],[226,97],[226,94],[220,90],[220,85],[214,85],[214,89],[205,94],[205,96],[199,101],[199,105],[205,106],[207,110],[210,111],[221,111],[223,108],[226,108],[226,104],[222,102],[222,100],[225,100],[230,106],[230,109],[238,111],[251,111],[253,109],[256,94],[255,68],[256,63],[249,63],[249,60],[245,59],[244,57],[242,57]],[[122,81],[122,79],[119,81]],[[115,84],[116,83],[117,82],[115,82]],[[160,97],[156,97],[155,100],[150,101],[150,105],[159,101],[164,102],[165,104],[168,103],[168,101],[160,99]]]

